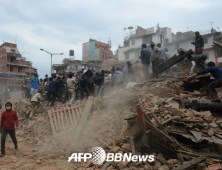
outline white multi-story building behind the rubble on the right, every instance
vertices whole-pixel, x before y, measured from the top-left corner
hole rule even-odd
[[[214,61],[216,64],[222,62],[222,49],[219,46],[213,44],[215,36],[221,35],[221,32],[217,32],[214,29],[209,29],[207,32],[201,32],[204,38],[204,51],[203,53],[208,56],[208,61]],[[123,46],[118,48],[118,62],[112,64],[113,66],[125,65],[129,60],[134,63],[138,60],[141,51],[141,45],[147,44],[147,48],[150,49],[150,42],[155,44],[161,43],[162,47],[167,48],[170,55],[177,54],[179,48],[185,50],[195,50],[194,45],[191,44],[195,40],[195,34],[193,31],[172,33],[171,28],[165,27],[151,27],[148,29],[137,26],[134,32],[130,32],[128,36],[124,38]]]

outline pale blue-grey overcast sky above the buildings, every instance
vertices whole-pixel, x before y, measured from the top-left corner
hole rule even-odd
[[[40,77],[50,74],[53,63],[69,58],[75,50],[82,59],[82,44],[90,38],[107,43],[112,50],[123,44],[125,27],[169,27],[177,31],[222,30],[221,0],[0,0],[0,42],[18,44],[33,62]],[[218,29],[217,29],[218,30]],[[17,38],[16,38],[17,37]]]

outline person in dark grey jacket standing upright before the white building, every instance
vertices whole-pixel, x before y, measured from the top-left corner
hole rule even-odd
[[[149,67],[150,67],[150,51],[146,49],[146,44],[141,45],[142,50],[140,52],[140,59],[143,66],[143,74],[145,80],[149,78]]]

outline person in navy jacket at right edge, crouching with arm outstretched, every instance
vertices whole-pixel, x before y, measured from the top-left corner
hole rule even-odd
[[[213,81],[212,83],[209,84],[208,88],[210,89],[211,94],[214,96],[215,99],[212,99],[212,102],[221,102],[221,100],[219,99],[218,95],[217,95],[217,91],[215,90],[215,88],[219,88],[222,87],[222,68],[216,67],[214,62],[209,62],[207,63],[207,69],[200,71],[196,74],[193,74],[192,76],[189,76],[188,79],[195,77],[195,76],[199,76],[199,75],[203,75],[206,73],[211,73],[211,75],[216,79],[215,81]]]

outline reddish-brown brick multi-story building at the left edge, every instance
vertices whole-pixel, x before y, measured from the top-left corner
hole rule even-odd
[[[32,62],[26,61],[17,49],[17,44],[3,43],[0,46],[0,85],[11,91],[21,90],[21,82],[25,77],[32,77],[36,69]]]

